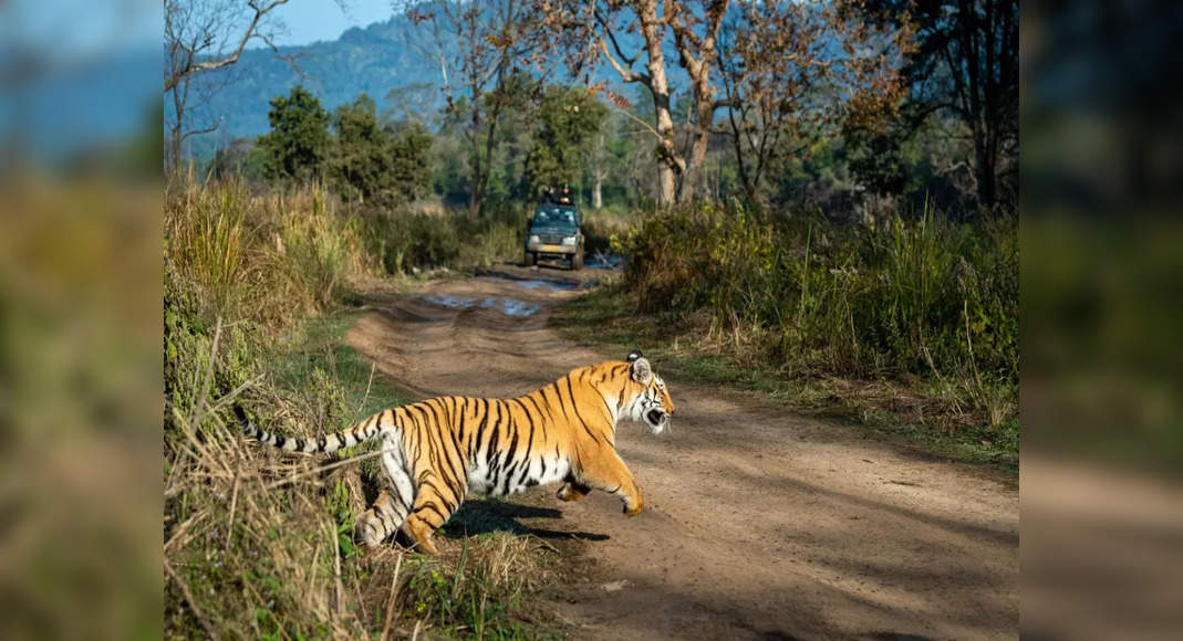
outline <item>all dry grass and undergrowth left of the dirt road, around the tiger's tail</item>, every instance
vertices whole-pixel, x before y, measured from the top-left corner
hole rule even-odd
[[[466,224],[437,221],[408,214],[390,224]],[[170,639],[551,634],[531,599],[556,576],[549,545],[494,523],[472,537],[458,531],[434,558],[393,547],[364,554],[354,543],[354,517],[377,491],[373,446],[328,459],[285,454],[248,443],[228,412],[241,403],[286,434],[312,436],[408,400],[342,341],[360,314],[350,282],[386,270],[373,224],[318,188],[175,182],[168,190]],[[411,244],[395,267],[503,260],[490,247],[445,261]],[[458,523],[479,518],[459,515]]]

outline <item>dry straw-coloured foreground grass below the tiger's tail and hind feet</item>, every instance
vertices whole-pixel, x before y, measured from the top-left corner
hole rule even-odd
[[[202,399],[192,417],[174,416],[180,433],[168,443],[175,454],[164,490],[169,637],[537,634],[515,614],[552,577],[543,543],[493,532],[445,542],[433,558],[395,545],[363,552],[353,516],[368,489],[361,462],[376,452],[321,459],[248,445],[220,418],[234,398]],[[277,417],[299,414],[282,397],[270,401]]]

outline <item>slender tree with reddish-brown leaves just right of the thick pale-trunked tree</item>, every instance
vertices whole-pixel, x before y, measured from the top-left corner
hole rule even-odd
[[[842,123],[873,122],[894,104],[910,25],[893,28],[852,17],[847,2],[737,0],[717,57],[725,132],[746,197],[764,201],[770,166],[833,137]]]

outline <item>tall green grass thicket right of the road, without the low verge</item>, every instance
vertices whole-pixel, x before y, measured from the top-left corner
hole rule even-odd
[[[709,342],[790,377],[919,378],[997,425],[1017,390],[1015,231],[931,209],[843,227],[698,205],[618,244],[641,313],[697,320]]]

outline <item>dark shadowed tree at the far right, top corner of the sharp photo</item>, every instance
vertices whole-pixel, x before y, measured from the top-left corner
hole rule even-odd
[[[867,19],[916,25],[916,51],[904,74],[911,90],[904,117],[911,127],[949,113],[974,142],[974,189],[991,207],[1013,202],[1019,165],[1019,1],[871,0]],[[1010,189],[1000,192],[1000,178]]]

